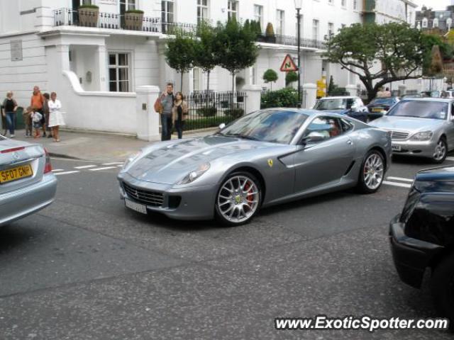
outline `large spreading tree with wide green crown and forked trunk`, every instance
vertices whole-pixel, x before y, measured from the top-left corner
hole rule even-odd
[[[327,45],[325,57],[357,74],[369,100],[384,84],[421,77],[427,55],[422,33],[400,23],[353,24],[339,30]]]

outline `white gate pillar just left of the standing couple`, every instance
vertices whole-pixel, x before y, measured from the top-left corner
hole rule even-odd
[[[137,137],[139,140],[159,140],[159,113],[154,104],[160,94],[157,86],[139,86],[135,89],[137,112]]]

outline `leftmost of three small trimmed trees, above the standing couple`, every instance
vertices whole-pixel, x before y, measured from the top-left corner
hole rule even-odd
[[[175,30],[175,38],[167,42],[165,61],[181,74],[180,91],[183,91],[183,74],[194,65],[194,37],[183,30]]]

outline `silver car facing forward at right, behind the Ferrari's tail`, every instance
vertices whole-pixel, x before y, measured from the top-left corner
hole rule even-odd
[[[454,149],[453,104],[451,99],[404,99],[370,124],[389,131],[395,154],[442,163]]]

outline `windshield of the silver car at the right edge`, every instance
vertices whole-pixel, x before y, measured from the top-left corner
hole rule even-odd
[[[387,115],[446,119],[448,116],[448,103],[441,101],[399,101]]]

